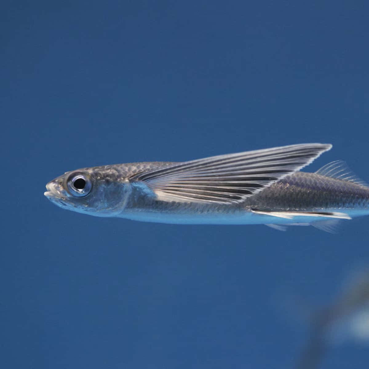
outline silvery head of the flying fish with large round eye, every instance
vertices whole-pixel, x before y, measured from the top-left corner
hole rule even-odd
[[[46,184],[44,195],[55,205],[66,209],[112,217],[124,210],[131,186],[109,168],[83,168],[66,172]]]

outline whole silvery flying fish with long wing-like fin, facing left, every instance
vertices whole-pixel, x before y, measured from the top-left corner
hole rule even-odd
[[[80,213],[171,224],[277,228],[369,214],[369,188],[342,162],[299,171],[330,148],[301,144],[183,163],[82,168],[49,182],[45,196]]]

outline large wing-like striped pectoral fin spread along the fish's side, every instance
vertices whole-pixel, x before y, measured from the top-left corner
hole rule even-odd
[[[301,144],[212,156],[139,173],[158,200],[237,204],[310,164],[330,144]]]

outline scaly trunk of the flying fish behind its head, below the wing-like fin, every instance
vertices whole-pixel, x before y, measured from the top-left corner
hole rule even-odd
[[[369,188],[315,173],[296,172],[286,176],[241,204],[166,202],[145,197],[135,188],[119,217],[173,224],[265,224],[296,223],[297,218],[276,219],[259,211],[332,212],[350,217],[369,214]],[[306,221],[306,218],[305,218]],[[315,219],[316,221],[316,219]]]

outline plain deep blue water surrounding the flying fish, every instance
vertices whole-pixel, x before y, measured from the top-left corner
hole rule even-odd
[[[183,226],[62,210],[67,170],[302,142],[369,180],[364,1],[5,1],[1,367],[293,368],[294,304],[329,304],[369,262],[368,218]],[[301,299],[301,300],[300,300]],[[305,302],[304,302],[305,304]],[[297,315],[297,317],[295,316]],[[366,368],[330,346],[324,368]]]

